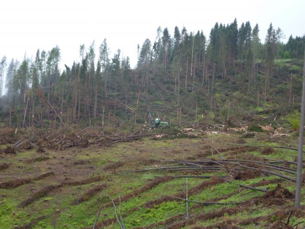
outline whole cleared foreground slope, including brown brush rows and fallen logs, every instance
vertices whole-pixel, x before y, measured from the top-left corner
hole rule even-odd
[[[119,228],[113,204],[126,228],[291,228],[304,221],[305,208],[293,210],[297,151],[273,148],[296,146],[297,133],[242,135],[3,154],[0,228]],[[301,196],[304,206],[304,185]]]

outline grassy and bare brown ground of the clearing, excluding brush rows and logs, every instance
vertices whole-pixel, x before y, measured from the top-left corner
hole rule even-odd
[[[10,166],[0,173],[0,181],[12,181],[18,178],[33,178],[47,171],[52,171],[53,176],[40,180],[33,180],[15,188],[0,189],[0,228],[14,228],[33,222],[29,228],[84,228],[91,227],[96,218],[101,228],[119,228],[114,218],[114,208],[110,199],[123,198],[119,204],[116,203],[120,215],[124,219],[126,228],[134,227],[168,227],[177,228],[175,223],[181,223],[178,227],[192,228],[203,226],[215,226],[217,223],[228,223],[234,221],[241,227],[253,228],[256,226],[267,227],[277,220],[287,218],[275,214],[279,206],[263,206],[257,202],[251,205],[242,205],[240,210],[226,212],[226,209],[235,209],[237,205],[198,205],[190,203],[189,222],[186,219],[186,202],[179,199],[166,199],[165,196],[178,196],[186,190],[186,178],[171,178],[165,181],[156,181],[156,176],[164,175],[226,175],[224,170],[153,170],[138,173],[120,174],[121,172],[135,169],[159,168],[161,166],[178,166],[174,162],[163,162],[164,160],[185,160],[191,157],[205,155],[211,158],[210,148],[225,149],[233,147],[240,140],[242,133],[227,132],[223,134],[202,135],[199,138],[158,139],[145,138],[132,142],[121,142],[112,147],[91,145],[88,148],[69,148],[63,151],[46,150],[46,153],[37,153],[35,150],[21,150],[16,155],[7,155],[0,158],[0,165],[8,163]],[[243,139],[250,145],[268,146],[296,146],[297,138],[293,135],[272,137],[262,132],[254,138]],[[214,152],[216,153],[216,152]],[[233,150],[222,151],[225,158],[267,158],[272,160],[293,161],[296,151],[276,149],[269,155],[262,155],[259,149],[253,151],[236,152]],[[30,159],[47,157],[42,161],[31,162]],[[201,156],[202,157],[202,156]],[[219,155],[214,158],[219,157]],[[195,158],[196,159],[196,158]],[[39,159],[38,159],[39,160]],[[296,168],[291,164],[290,168]],[[287,175],[283,171],[277,171]],[[288,175],[287,175],[288,176]],[[295,177],[294,175],[289,175]],[[72,181],[81,181],[89,178],[100,177],[99,180],[84,184],[71,184]],[[232,183],[221,182],[200,187],[203,182],[210,179],[188,178],[188,189],[195,191],[189,196],[191,200],[199,202],[245,202],[253,201],[262,197],[265,193],[247,188],[238,184],[249,186],[259,185],[262,181],[272,181],[276,176],[261,175],[246,180],[233,180]],[[60,185],[58,188],[47,191],[38,196],[33,202],[24,207],[20,203],[26,198],[34,196],[39,190],[49,185],[59,185],[64,182],[69,184]],[[275,189],[278,182],[257,187],[264,189]],[[1,184],[1,183],[0,183]],[[88,196],[86,201],[73,204],[86,191],[105,184],[106,187]],[[151,185],[150,185],[151,184]],[[149,186],[150,185],[150,186]],[[294,182],[283,180],[281,185],[289,191],[295,191]],[[149,186],[149,187],[148,187]],[[148,187],[148,188],[144,188]],[[142,190],[141,190],[142,189]],[[141,191],[139,191],[141,190]],[[130,194],[129,196],[127,196]],[[305,188],[302,186],[302,196]],[[124,199],[125,198],[125,199]],[[164,198],[162,201],[162,198]],[[161,201],[158,201],[160,200]],[[215,201],[217,199],[217,201]],[[302,197],[302,200],[304,198]],[[147,203],[157,203],[147,207]],[[254,202],[251,202],[254,203]],[[305,201],[302,201],[305,205]],[[293,199],[287,199],[280,207],[281,209],[292,209]],[[200,218],[200,215],[211,214],[218,211],[222,214]],[[97,217],[97,212],[100,212]],[[272,215],[274,213],[274,215]],[[304,214],[305,215],[305,214]],[[290,224],[305,220],[305,216],[292,214]],[[41,219],[38,217],[45,216]],[[262,217],[270,216],[268,220]],[[173,217],[177,217],[174,219]],[[247,219],[261,217],[256,224],[243,225]],[[243,226],[242,226],[243,225]]]

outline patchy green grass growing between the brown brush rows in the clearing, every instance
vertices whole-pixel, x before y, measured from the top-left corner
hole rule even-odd
[[[111,148],[103,148],[98,146],[93,146],[89,148],[79,148],[76,149],[76,156],[74,156],[68,149],[65,151],[49,151],[49,157],[56,156],[57,158],[52,158],[48,161],[35,162],[26,164],[24,163],[25,158],[38,157],[35,150],[17,152],[16,156],[7,157],[6,160],[12,163],[10,171],[12,171],[12,176],[5,171],[4,180],[11,180],[12,177],[28,177],[33,174],[40,174],[45,170],[48,170],[47,164],[58,163],[63,161],[64,163],[71,166],[72,162],[67,162],[66,158],[71,158],[72,161],[86,160],[89,161],[88,164],[81,165],[84,169],[88,166],[94,166],[94,169],[89,170],[86,176],[76,176],[71,177],[73,180],[82,180],[88,177],[90,171],[94,171],[90,176],[102,175],[104,180],[101,182],[95,182],[92,184],[80,185],[80,186],[65,186],[61,191],[52,191],[47,194],[47,196],[37,199],[33,204],[30,204],[24,208],[18,208],[18,205],[32,193],[32,189],[39,190],[42,187],[50,184],[57,184],[62,182],[64,177],[56,179],[55,177],[49,177],[43,180],[34,181],[29,184],[22,185],[15,189],[0,189],[0,228],[11,228],[14,225],[22,225],[27,222],[32,221],[41,215],[47,215],[47,218],[39,221],[33,228],[53,228],[56,225],[57,228],[82,228],[85,226],[92,226],[96,213],[99,209],[101,203],[109,202],[108,196],[111,198],[116,198],[118,195],[123,196],[125,194],[131,193],[133,190],[139,189],[143,185],[149,182],[148,179],[155,179],[155,176],[166,175],[167,171],[150,171],[149,173],[132,173],[124,175],[111,175],[111,171],[104,170],[104,167],[110,163],[117,161],[126,162],[123,166],[116,169],[119,171],[128,171],[139,168],[154,168],[155,164],[146,165],[140,163],[140,160],[144,159],[185,159],[188,156],[197,154],[199,151],[204,152],[204,146],[208,144],[214,145],[216,148],[226,148],[231,146],[231,142],[240,138],[240,134],[215,134],[209,136],[202,136],[201,138],[181,138],[181,139],[160,139],[160,140],[150,140],[149,138],[143,139],[142,141],[136,142],[122,142],[116,144]],[[289,144],[294,144],[296,141],[294,136],[287,136],[285,139]],[[255,138],[247,139],[249,145],[268,145],[268,146],[280,146],[283,145],[281,139],[274,140],[269,138],[268,133],[260,133]],[[285,143],[287,144],[287,143]],[[124,150],[127,151],[125,153]],[[99,150],[99,152],[96,152]],[[143,150],[145,154],[141,153]],[[179,153],[177,153],[179,152]],[[286,149],[275,149],[275,153],[270,155],[261,155],[260,151],[246,152],[243,155],[254,155],[258,157],[264,157],[269,159],[285,159],[294,160],[296,151],[286,150]],[[142,155],[143,154],[143,155]],[[230,153],[222,153],[225,157],[230,155]],[[64,157],[61,158],[61,157]],[[218,155],[217,155],[218,156]],[[137,161],[137,158],[140,158]],[[210,157],[210,156],[208,156]],[[19,161],[22,160],[22,161]],[[130,160],[135,160],[133,164],[129,164]],[[160,166],[160,163],[156,163]],[[22,168],[22,165],[26,167]],[[17,168],[16,166],[21,166]],[[76,169],[78,165],[74,166]],[[295,167],[295,166],[294,166]],[[65,168],[63,168],[65,170]],[[70,168],[69,168],[70,169]],[[68,170],[68,168],[67,168]],[[279,173],[282,173],[279,171]],[[170,173],[170,175],[179,175],[180,171],[175,171]],[[284,173],[283,173],[284,174]],[[199,173],[198,175],[226,175],[224,171],[214,171],[213,173]],[[60,176],[60,175],[57,175]],[[68,173],[69,176],[69,173]],[[111,180],[108,180],[110,178]],[[241,202],[252,197],[263,195],[263,192],[254,191],[250,189],[240,188],[237,184],[252,185],[258,183],[261,179],[270,180],[276,178],[275,176],[259,177],[255,179],[250,179],[247,181],[233,181],[233,183],[221,183],[212,187],[207,187],[206,189],[200,191],[197,194],[190,196],[190,199],[195,201],[208,201],[212,198],[218,198],[220,196],[225,197],[230,195],[227,199],[222,199],[220,202]],[[55,180],[56,179],[56,180]],[[206,181],[207,179],[189,178],[188,185],[189,189],[195,187],[196,185]],[[126,202],[122,202],[120,206],[120,211],[124,216],[124,222],[127,228],[132,228],[135,226],[147,226],[151,223],[164,221],[177,214],[185,214],[186,203],[184,201],[172,201],[165,202],[160,205],[155,206],[151,209],[143,208],[144,204],[149,201],[154,201],[160,198],[162,195],[177,195],[180,192],[185,191],[185,178],[177,178],[170,180],[166,183],[161,183],[156,187],[147,190],[138,196],[130,198]],[[71,203],[79,197],[85,190],[101,184],[107,183],[107,187],[101,192],[95,194],[88,201],[83,202],[79,205],[71,205]],[[294,192],[294,185],[291,182],[283,182],[284,187],[288,190]],[[276,184],[270,184],[262,186],[261,188],[275,188]],[[305,189],[302,189],[302,195],[305,195]],[[2,196],[6,194],[6,196]],[[302,201],[305,204],[305,201]],[[217,206],[209,205],[200,208],[195,208],[196,204],[190,203],[191,216],[198,214],[208,213],[211,211],[220,210],[222,208],[234,207],[234,205]],[[136,211],[131,212],[132,209],[138,208]],[[58,212],[56,210],[59,210]],[[262,209],[260,205],[253,206],[250,209],[246,209],[241,213],[234,214],[232,216],[225,215],[219,219],[206,220],[204,222],[198,221],[194,225],[212,225],[224,221],[226,219],[247,219],[249,217],[258,217],[264,214],[271,214],[275,211],[276,207],[264,208]],[[113,207],[103,208],[98,221],[114,218]],[[300,218],[299,218],[300,219]],[[292,220],[297,222],[296,218],[292,217]],[[260,224],[262,225],[262,224]],[[250,225],[251,226],[251,225]],[[247,226],[248,227],[248,226]],[[117,223],[109,226],[109,228],[119,228]],[[251,228],[251,227],[250,227]]]

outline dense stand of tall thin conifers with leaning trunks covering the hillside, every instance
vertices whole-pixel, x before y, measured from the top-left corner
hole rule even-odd
[[[80,45],[80,61],[64,70],[59,69],[57,46],[38,49],[34,60],[24,56],[7,63],[4,56],[0,86],[2,90],[6,72],[7,94],[1,98],[2,117],[16,127],[121,125],[142,119],[147,108],[168,107],[163,113],[171,119],[197,119],[199,113],[225,107],[229,96],[224,98],[220,91],[266,102],[275,89],[280,95],[289,83],[289,96],[280,97],[290,102],[292,93],[300,94],[292,81],[300,76],[297,60],[303,58],[305,36],[290,36],[283,43],[283,31],[271,23],[264,41],[259,33],[258,24],[252,27],[247,21],[238,28],[236,19],[216,23],[208,37],[177,26],[171,36],[168,28],[159,27],[154,41],[138,45],[136,69],[120,50],[110,57],[106,39],[99,50],[94,43]],[[296,60],[295,71],[281,69],[279,59]]]

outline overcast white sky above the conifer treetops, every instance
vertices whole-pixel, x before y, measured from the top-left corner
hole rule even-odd
[[[51,50],[59,46],[62,65],[79,61],[79,46],[95,40],[96,53],[104,40],[111,55],[119,48],[130,56],[131,67],[137,62],[137,44],[146,38],[154,42],[157,28],[168,27],[173,35],[177,25],[181,31],[202,30],[206,37],[216,22],[231,23],[236,17],[238,26],[250,21],[258,23],[264,39],[272,22],[281,27],[287,39],[292,34],[305,34],[305,1],[121,1],[121,0],[10,0],[0,4],[0,58],[7,56],[22,60],[24,53],[35,58],[37,49]],[[286,39],[286,40],[287,40]],[[62,69],[63,70],[63,69]]]

